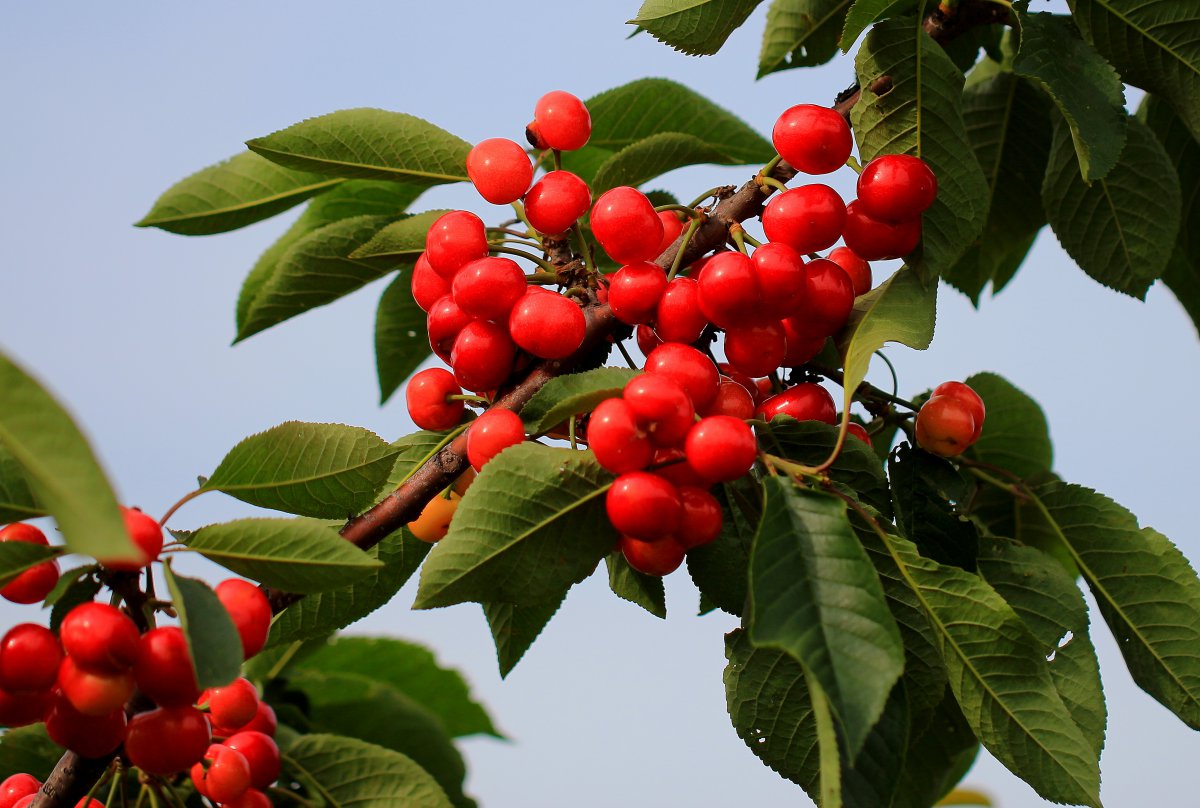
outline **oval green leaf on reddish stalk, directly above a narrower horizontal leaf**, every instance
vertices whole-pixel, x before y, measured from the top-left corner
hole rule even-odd
[[[374,502],[395,455],[359,426],[287,421],[230,449],[204,490],[299,516],[347,519]]]

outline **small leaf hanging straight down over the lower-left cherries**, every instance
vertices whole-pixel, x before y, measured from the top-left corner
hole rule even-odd
[[[200,689],[229,684],[242,663],[241,638],[229,612],[204,581],[175,575],[169,563],[163,564],[163,575],[192,654],[196,683]]]

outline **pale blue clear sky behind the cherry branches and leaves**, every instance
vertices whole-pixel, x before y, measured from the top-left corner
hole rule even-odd
[[[470,142],[520,139],[547,90],[588,97],[665,76],[767,133],[793,103],[829,103],[852,65],[754,82],[764,8],[719,55],[695,59],[625,40],[637,0],[13,5],[0,28],[0,349],[71,408],[122,499],[154,514],[239,439],[284,420],[400,437],[413,430],[403,397],[377,406],[380,283],[229,347],[241,280],[294,213],[202,239],[131,223],[244,140],[349,107],[416,114]],[[689,169],[655,185],[686,199],[746,176]],[[436,190],[415,209],[425,207],[486,213],[466,186]],[[1002,373],[1049,413],[1064,479],[1200,559],[1200,343],[1168,289],[1146,303],[1104,289],[1045,231],[998,298],[977,312],[943,288],[932,348],[889,353],[905,393]],[[209,495],[176,523],[247,510]],[[427,642],[470,680],[512,738],[462,744],[484,806],[809,804],[730,726],[721,636],[733,618],[695,617],[684,573],[667,591],[664,623],[593,577],[504,682],[478,608],[414,612],[409,586],[353,630]],[[26,620],[44,617],[0,608],[2,626]],[[1110,710],[1105,803],[1195,804],[1200,738],[1132,684],[1103,626],[1094,636]],[[1043,804],[985,755],[966,783],[1004,808]]]

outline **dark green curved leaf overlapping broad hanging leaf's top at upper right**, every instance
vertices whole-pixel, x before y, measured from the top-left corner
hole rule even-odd
[[[1084,179],[1098,180],[1112,170],[1126,142],[1124,88],[1070,17],[1022,14],[1013,71],[1036,80],[1058,106]]]

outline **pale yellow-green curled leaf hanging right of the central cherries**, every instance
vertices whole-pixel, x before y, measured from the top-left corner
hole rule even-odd
[[[845,367],[844,409],[866,378],[871,357],[888,342],[924,351],[934,340],[937,318],[937,283],[923,282],[907,267],[854,300],[850,321],[838,340]]]

